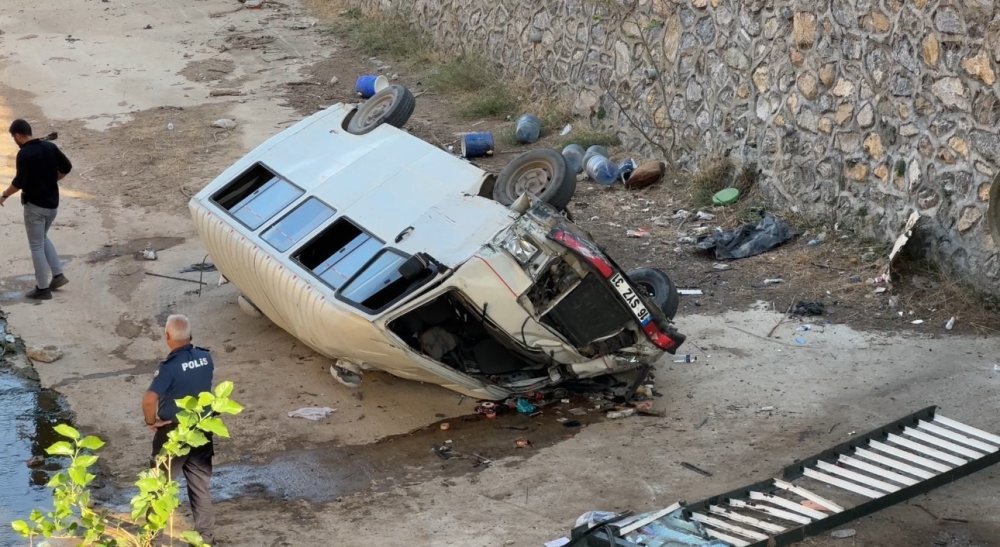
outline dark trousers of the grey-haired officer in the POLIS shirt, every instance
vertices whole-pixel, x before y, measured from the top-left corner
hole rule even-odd
[[[160,448],[167,441],[167,433],[175,425],[168,425],[156,430],[153,435],[153,460],[160,453]],[[209,482],[212,479],[212,443],[192,448],[187,456],[174,458],[170,465],[170,476],[180,480],[181,474],[187,481],[188,500],[191,502],[191,513],[194,516],[194,529],[201,534],[206,543],[212,542],[212,530],[215,528],[215,510],[212,508],[212,492]]]

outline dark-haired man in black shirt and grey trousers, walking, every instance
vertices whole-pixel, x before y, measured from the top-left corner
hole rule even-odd
[[[35,290],[26,296],[49,300],[52,289],[69,283],[48,233],[59,207],[59,180],[69,174],[73,165],[58,146],[33,138],[31,126],[24,120],[14,120],[10,124],[10,136],[21,149],[17,153],[17,174],[0,195],[0,206],[10,196],[21,192],[24,229],[28,233],[31,262],[35,267]]]

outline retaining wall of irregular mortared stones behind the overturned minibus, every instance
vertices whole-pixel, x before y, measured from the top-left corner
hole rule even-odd
[[[808,216],[891,241],[918,210],[931,256],[1000,290],[992,0],[347,1],[496,59],[632,149],[756,162]]]

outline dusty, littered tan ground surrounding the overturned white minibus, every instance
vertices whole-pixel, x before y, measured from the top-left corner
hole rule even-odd
[[[298,1],[259,10],[235,0],[4,7],[0,125],[25,117],[38,133],[58,130],[75,169],[52,233],[71,284],[42,304],[19,297],[32,283],[31,264],[12,202],[0,210],[8,257],[0,307],[27,343],[65,351],[38,372],[66,396],[79,426],[108,441],[106,490],[126,487],[145,461],[149,435],[138,403],[164,354],[163,319],[194,319],[196,342],[217,357],[217,379],[234,380],[247,407],[230,422],[234,439],[217,448],[218,535],[226,544],[539,545],[584,511],[700,499],[930,404],[1000,431],[995,312],[926,276],[876,295],[864,281],[878,273],[884,247],[866,257],[863,244],[832,228],[818,247],[803,236],[716,272],[713,260],[677,243],[690,225],[652,221],[690,209],[680,183],[641,192],[581,183],[571,206],[623,265],[659,265],[679,286],[705,292],[685,298],[678,317],[685,351],[699,360],[658,366],[666,418],[603,421],[590,413],[582,428],[559,425],[571,408],[586,408],[576,400],[532,419],[484,422],[469,417],[474,401],[384,374],[366,375],[361,393],[352,393],[332,380],[325,359],[241,314],[236,289],[217,286],[215,275],[199,285],[147,274],[199,279],[179,273],[205,259],[186,216],[191,193],[303,114],[352,99],[358,73],[393,60],[352,53],[324,32],[330,10],[310,12]],[[419,87],[419,74],[391,71]],[[328,84],[332,76],[338,85]],[[447,97],[418,101],[409,129],[430,142],[454,142],[470,126],[451,116]],[[222,117],[237,128],[211,126]],[[5,139],[0,145],[0,175],[9,178],[15,150]],[[516,151],[500,150],[484,166],[499,169]],[[625,238],[634,227],[651,235]],[[139,260],[146,248],[159,260]],[[785,283],[762,285],[778,276]],[[768,337],[796,298],[823,300],[832,313],[812,319],[811,331],[796,331],[792,319]],[[946,331],[952,315],[958,326]],[[926,322],[914,327],[916,318]],[[321,422],[286,416],[303,406],[338,410]],[[452,424],[447,433],[442,420]],[[515,448],[519,437],[533,447]],[[438,458],[430,449],[447,439],[492,464]],[[995,473],[858,521],[850,540],[807,543],[992,545],[1000,537]]]

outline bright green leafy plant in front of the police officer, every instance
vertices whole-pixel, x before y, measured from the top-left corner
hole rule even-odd
[[[243,411],[243,406],[230,398],[232,393],[233,383],[226,381],[212,392],[177,399],[180,409],[177,427],[167,434],[155,466],[139,474],[135,483],[139,492],[132,497],[132,510],[127,517],[96,509],[90,498],[88,487],[94,474],[89,469],[97,463],[97,451],[104,441],[93,435],[83,437],[67,424],[55,426],[56,433],[66,440],[54,443],[46,452],[68,457],[70,463],[48,482],[52,489],[52,510],[43,513],[35,509],[27,520],[16,520],[11,527],[27,538],[30,545],[39,538],[76,538],[83,545],[149,547],[164,530],[173,541],[173,517],[180,505],[180,485],[171,476],[171,463],[174,458],[189,454],[192,448],[208,444],[210,435],[229,438],[229,429],[219,416]],[[180,538],[189,545],[207,546],[194,531],[185,531]]]

